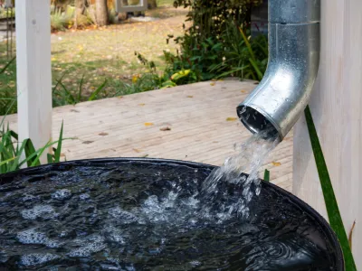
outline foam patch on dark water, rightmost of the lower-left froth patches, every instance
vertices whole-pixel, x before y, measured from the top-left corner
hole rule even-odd
[[[93,235],[86,238],[77,238],[74,244],[79,248],[75,248],[68,253],[69,257],[90,257],[95,252],[100,252],[106,248],[104,238],[99,235]]]

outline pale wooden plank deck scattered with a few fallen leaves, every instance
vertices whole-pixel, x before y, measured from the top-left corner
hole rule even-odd
[[[67,160],[97,157],[158,157],[220,165],[233,144],[251,134],[235,107],[255,87],[229,79],[159,89],[121,98],[53,109],[53,136],[64,122]],[[16,116],[8,117],[15,129]],[[170,130],[163,131],[165,128]],[[292,135],[275,149],[264,168],[272,182],[291,191]]]

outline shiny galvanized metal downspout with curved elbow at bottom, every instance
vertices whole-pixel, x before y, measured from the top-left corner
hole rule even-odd
[[[319,68],[319,20],[320,0],[269,0],[268,69],[237,107],[252,133],[282,140],[307,106]]]

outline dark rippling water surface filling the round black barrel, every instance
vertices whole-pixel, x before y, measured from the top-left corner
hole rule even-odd
[[[336,270],[305,209],[263,184],[247,219],[225,212],[243,194],[220,182],[207,201],[211,171],[93,161],[0,176],[0,270]]]

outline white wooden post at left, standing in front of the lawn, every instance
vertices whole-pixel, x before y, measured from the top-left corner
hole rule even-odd
[[[16,0],[15,17],[19,140],[40,148],[52,138],[50,1]]]

